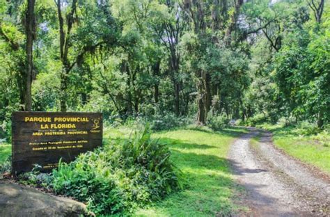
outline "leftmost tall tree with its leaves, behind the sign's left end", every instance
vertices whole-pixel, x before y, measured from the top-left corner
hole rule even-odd
[[[17,72],[15,76],[17,87],[19,88],[20,107],[23,111],[31,111],[32,108],[33,40],[36,38],[34,8],[35,1],[33,0],[26,2],[23,9],[24,11],[19,10],[18,6],[15,4],[8,4],[6,8],[8,14],[3,14],[3,16],[10,17],[10,22],[3,22],[3,17],[1,17],[0,21],[1,38],[9,45],[11,54],[13,58],[15,58],[14,64],[10,64],[10,66],[12,70]],[[20,17],[20,13],[22,13],[22,17],[24,17],[21,23],[23,24],[23,28],[19,25],[15,25],[15,19],[13,19],[14,17]],[[22,31],[22,29],[25,31]],[[14,32],[17,33],[17,35],[13,34]],[[22,40],[24,33],[26,38]]]

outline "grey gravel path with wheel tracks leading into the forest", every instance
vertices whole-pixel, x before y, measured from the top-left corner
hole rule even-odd
[[[246,188],[239,216],[330,216],[330,184],[301,163],[278,151],[272,135],[249,128],[232,145],[229,160],[239,184]],[[249,140],[260,136],[257,147]]]

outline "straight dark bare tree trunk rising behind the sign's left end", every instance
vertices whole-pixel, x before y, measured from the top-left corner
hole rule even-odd
[[[32,97],[31,97],[31,83],[33,77],[33,40],[35,39],[36,21],[34,17],[35,0],[27,1],[26,8],[26,74],[23,78],[24,82],[24,110],[31,111]]]

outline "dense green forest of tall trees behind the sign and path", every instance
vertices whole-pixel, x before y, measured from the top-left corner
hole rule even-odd
[[[324,1],[2,1],[0,121],[329,122]],[[257,120],[258,121],[258,120]]]

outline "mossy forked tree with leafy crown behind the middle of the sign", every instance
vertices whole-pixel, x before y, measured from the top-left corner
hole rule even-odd
[[[84,56],[87,54],[93,54],[102,47],[113,47],[118,35],[116,22],[109,11],[108,1],[94,3],[72,0],[67,5],[61,0],[57,0],[55,3],[58,14],[59,49],[62,63],[60,102],[61,111],[66,111],[69,79],[74,67],[82,65]],[[63,14],[66,15],[63,16]],[[95,29],[93,26],[97,26],[99,29]]]

